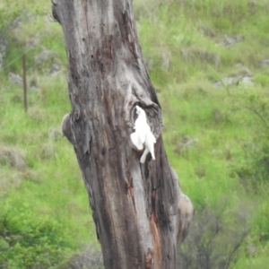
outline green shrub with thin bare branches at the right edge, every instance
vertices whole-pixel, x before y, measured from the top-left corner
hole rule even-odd
[[[248,112],[247,125],[252,139],[242,143],[244,162],[236,169],[245,186],[254,191],[269,183],[269,107],[263,94],[250,95],[245,104]]]

